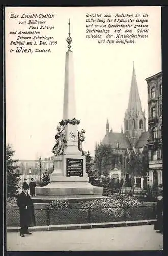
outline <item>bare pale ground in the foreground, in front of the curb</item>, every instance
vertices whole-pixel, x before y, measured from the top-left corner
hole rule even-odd
[[[162,250],[163,236],[153,225],[7,233],[7,251]]]

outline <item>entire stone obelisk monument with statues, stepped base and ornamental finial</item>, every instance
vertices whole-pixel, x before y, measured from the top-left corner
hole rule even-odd
[[[85,130],[77,130],[80,123],[76,119],[75,83],[73,53],[71,51],[72,38],[67,38],[68,51],[65,59],[65,87],[63,120],[57,126],[56,144],[53,147],[54,170],[50,183],[45,187],[37,187],[36,195],[43,198],[97,198],[103,193],[102,187],[92,186],[86,173],[86,162],[81,143]]]

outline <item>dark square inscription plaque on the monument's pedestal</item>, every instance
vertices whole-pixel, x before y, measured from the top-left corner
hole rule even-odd
[[[67,177],[83,177],[83,159],[67,158]]]

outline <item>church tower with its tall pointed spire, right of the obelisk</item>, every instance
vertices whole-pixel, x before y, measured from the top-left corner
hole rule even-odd
[[[142,132],[145,132],[145,122],[145,111],[142,111],[141,108],[141,100],[139,97],[135,68],[133,65],[128,109],[124,118],[124,132],[128,136],[131,146],[135,147]]]

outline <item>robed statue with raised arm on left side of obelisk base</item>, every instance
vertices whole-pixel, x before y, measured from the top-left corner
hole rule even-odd
[[[64,153],[64,143],[66,142],[64,133],[62,133],[64,128],[65,128],[65,125],[63,126],[62,130],[61,130],[61,127],[59,125],[57,126],[57,131],[58,132],[55,135],[56,144],[52,148],[52,153],[54,153],[55,156],[56,155],[63,155],[63,153]]]

